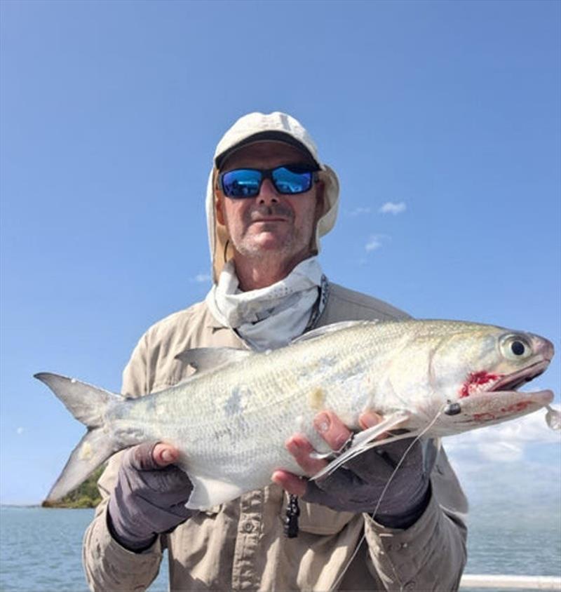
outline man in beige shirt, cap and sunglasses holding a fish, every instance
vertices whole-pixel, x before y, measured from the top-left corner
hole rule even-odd
[[[298,121],[242,117],[219,142],[214,165],[207,193],[214,285],[205,302],[142,337],[123,392],[142,396],[180,382],[191,370],[175,356],[194,347],[263,351],[337,321],[407,318],[323,275],[315,255],[334,224],[339,184]],[[380,420],[366,410],[360,426]],[[314,424],[334,451],[351,436],[329,409]],[[301,434],[286,446],[306,475],[325,466]],[[444,453],[435,459],[434,445],[411,440],[378,450],[317,483],[275,471],[264,490],[201,512],[184,507],[192,487],[173,465],[177,450],[146,443],[121,452],[100,479],[104,500],[86,532],[90,588],[146,588],[165,548],[177,591],[457,588],[466,502]],[[283,535],[287,504],[295,509],[286,492],[300,497],[296,538]]]

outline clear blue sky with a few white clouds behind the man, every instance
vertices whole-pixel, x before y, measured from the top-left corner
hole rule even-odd
[[[333,281],[560,349],[559,2],[0,10],[1,502],[39,502],[83,433],[32,375],[118,391],[142,332],[204,297],[206,177],[247,112],[296,116],[337,170]],[[449,448],[475,496],[483,469],[489,495],[560,497],[543,417]]]

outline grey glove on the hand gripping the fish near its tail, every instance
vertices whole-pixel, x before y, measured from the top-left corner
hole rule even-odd
[[[134,446],[123,455],[117,485],[109,498],[111,536],[129,551],[143,551],[158,534],[173,530],[194,514],[185,507],[193,485],[177,466],[158,466],[155,442]]]

